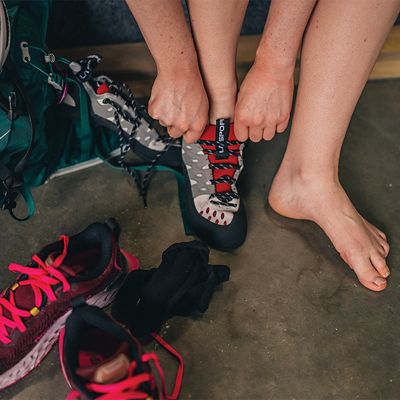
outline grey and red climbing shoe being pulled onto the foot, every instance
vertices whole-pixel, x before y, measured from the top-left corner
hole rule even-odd
[[[223,251],[239,247],[246,238],[246,212],[236,188],[243,148],[227,119],[208,125],[197,143],[182,143],[186,222],[202,240]]]

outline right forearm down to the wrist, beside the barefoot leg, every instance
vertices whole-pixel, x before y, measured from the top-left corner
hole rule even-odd
[[[256,63],[272,73],[293,73],[296,55],[317,0],[272,0]]]

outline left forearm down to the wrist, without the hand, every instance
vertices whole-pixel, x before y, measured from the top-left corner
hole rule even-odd
[[[126,0],[157,65],[176,73],[197,67],[193,38],[180,0]]]

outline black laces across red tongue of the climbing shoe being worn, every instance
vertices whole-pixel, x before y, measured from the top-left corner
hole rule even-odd
[[[204,154],[207,155],[217,155],[217,147],[216,143],[210,140],[203,140],[199,139],[197,141],[198,144],[201,145],[203,148]],[[241,157],[240,155],[240,145],[242,143],[239,142],[238,140],[228,140],[226,142],[227,149],[226,152],[230,156],[234,156],[237,160],[237,163],[218,163],[215,160],[214,162],[210,160],[209,158],[209,167],[211,170],[238,170],[240,169],[240,164],[239,164],[239,158]],[[234,148],[232,148],[234,146]],[[239,146],[239,147],[238,147]],[[217,179],[210,179],[211,184],[216,186],[217,184],[221,183],[227,183],[229,185],[232,185],[236,183],[236,179],[229,176],[229,175],[222,175]],[[225,192],[215,192],[210,195],[210,202],[216,205],[220,205],[223,207],[236,207],[235,203],[232,203],[233,200],[236,200],[239,198],[239,195],[234,192],[233,190],[228,190]]]

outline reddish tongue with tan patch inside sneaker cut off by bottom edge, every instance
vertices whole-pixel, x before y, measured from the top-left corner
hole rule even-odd
[[[79,367],[76,374],[89,382],[99,384],[110,384],[124,379],[129,371],[129,346],[126,342],[122,343],[117,351],[107,359],[97,364]],[[93,357],[96,362],[96,357]]]

